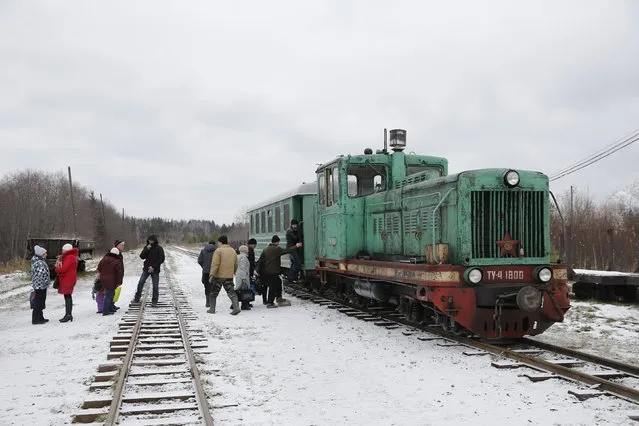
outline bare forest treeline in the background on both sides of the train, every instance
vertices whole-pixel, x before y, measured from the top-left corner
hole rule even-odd
[[[109,194],[104,194],[108,196]],[[571,210],[570,192],[558,197],[567,232],[566,244],[572,266],[585,269],[635,271],[639,261],[639,182],[625,192],[597,203],[589,194],[576,191]],[[170,220],[160,217],[134,218],[123,215],[89,188],[73,183],[75,221],[66,174],[26,170],[0,180],[0,263],[23,258],[26,241],[32,237],[79,236],[96,242],[98,251],[123,239],[133,248],[156,234],[164,244],[202,243],[228,235],[245,241],[245,215],[230,225],[214,220]],[[571,214],[572,212],[572,214]],[[570,232],[572,224],[572,232]],[[553,261],[562,258],[562,221],[551,202]],[[565,261],[565,257],[562,258]]]

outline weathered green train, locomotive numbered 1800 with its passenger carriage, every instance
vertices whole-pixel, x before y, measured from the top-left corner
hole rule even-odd
[[[548,178],[483,169],[448,175],[445,158],[388,152],[340,156],[317,181],[249,211],[258,250],[290,219],[304,235],[306,282],[413,321],[481,337],[542,333],[570,308],[565,265],[550,261]],[[282,266],[289,263],[283,259]]]

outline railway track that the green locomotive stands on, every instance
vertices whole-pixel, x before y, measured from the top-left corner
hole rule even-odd
[[[495,368],[522,369],[521,376],[533,382],[566,379],[578,388],[569,393],[579,400],[609,395],[639,404],[639,367],[597,357],[569,348],[521,339],[503,344],[486,343],[446,332],[432,325],[409,323],[393,309],[362,309],[337,301],[330,296],[311,293],[299,285],[286,284],[285,290],[294,297],[310,300],[345,315],[373,322],[387,329],[403,328],[402,333],[419,340],[433,341],[439,346],[459,347],[466,356],[493,355]],[[559,355],[559,357],[558,357]],[[585,386],[583,386],[585,385]]]

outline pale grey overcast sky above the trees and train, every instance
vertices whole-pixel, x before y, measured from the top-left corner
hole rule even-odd
[[[381,148],[556,172],[639,128],[633,1],[0,0],[0,175],[230,222]],[[639,179],[639,143],[553,183]]]

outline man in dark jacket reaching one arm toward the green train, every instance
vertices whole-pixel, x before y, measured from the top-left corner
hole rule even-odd
[[[297,248],[302,247],[302,243],[297,243],[293,247],[283,249],[280,247],[280,237],[273,235],[271,244],[269,244],[260,255],[258,260],[258,273],[260,281],[264,289],[268,289],[267,308],[277,308],[278,306],[291,306],[291,302],[282,298],[282,280],[280,279],[280,270],[282,268],[281,257],[287,253],[291,253]],[[277,305],[275,299],[277,298]]]

